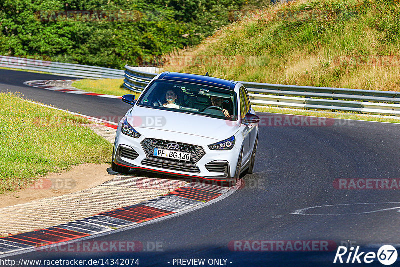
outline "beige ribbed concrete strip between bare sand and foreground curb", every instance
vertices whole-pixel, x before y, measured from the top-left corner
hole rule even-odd
[[[184,181],[118,174],[94,188],[0,208],[0,234],[33,231],[140,203],[183,186]]]

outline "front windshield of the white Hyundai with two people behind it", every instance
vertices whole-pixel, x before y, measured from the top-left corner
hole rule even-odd
[[[140,96],[139,106],[237,119],[236,93],[194,83],[155,80]]]

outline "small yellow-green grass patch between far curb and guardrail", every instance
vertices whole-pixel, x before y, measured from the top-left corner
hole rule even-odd
[[[110,94],[117,96],[134,94],[136,99],[140,95],[139,93],[125,89],[125,87],[123,87],[123,79],[81,79],[73,82],[72,86],[83,91],[101,94]]]

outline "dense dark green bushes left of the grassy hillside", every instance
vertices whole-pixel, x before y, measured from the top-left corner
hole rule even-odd
[[[200,43],[245,2],[0,0],[0,54],[121,69],[152,64],[164,53]],[[134,16],[133,21],[55,16],[67,10],[123,10]]]

